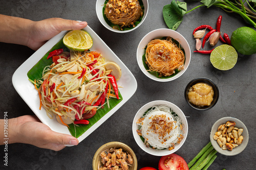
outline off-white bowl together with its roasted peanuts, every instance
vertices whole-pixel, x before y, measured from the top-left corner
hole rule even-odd
[[[248,140],[246,126],[234,117],[223,117],[211,128],[211,144],[222,155],[233,156],[241,153],[246,148]]]

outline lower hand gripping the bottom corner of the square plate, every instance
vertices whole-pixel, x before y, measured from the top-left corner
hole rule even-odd
[[[54,151],[62,150],[66,147],[65,144],[77,145],[79,143],[78,139],[71,135],[52,131],[36,116],[25,115],[12,118],[9,119],[9,123],[12,127],[9,143],[27,143]]]

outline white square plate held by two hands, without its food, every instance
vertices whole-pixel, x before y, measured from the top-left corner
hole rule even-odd
[[[79,142],[90,135],[95,129],[97,129],[106,119],[108,119],[112,114],[114,114],[125,102],[127,102],[137,89],[137,82],[132,72],[124,65],[124,63],[115,55],[115,53],[102,41],[102,39],[89,27],[83,29],[88,32],[93,39],[93,46],[90,48],[91,51],[97,51],[102,54],[102,56],[107,61],[116,62],[122,70],[122,77],[117,81],[119,86],[119,91],[122,95],[123,100],[118,103],[112,110],[106,113],[101,119],[98,120],[91,128],[84,132],[78,137]],[[66,126],[57,123],[57,120],[50,119],[44,108],[39,110],[39,96],[34,85],[28,80],[28,71],[49,51],[51,48],[59,42],[67,31],[62,31],[52,39],[50,39],[46,44],[41,46],[30,58],[28,58],[18,69],[14,72],[12,77],[12,83],[18,94],[27,103],[31,110],[36,114],[36,116],[41,120],[42,123],[49,126],[53,131],[70,134]]]

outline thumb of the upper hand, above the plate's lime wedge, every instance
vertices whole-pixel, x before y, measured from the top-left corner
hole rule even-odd
[[[86,21],[75,21],[61,18],[54,18],[52,25],[58,31],[81,30],[87,26]]]

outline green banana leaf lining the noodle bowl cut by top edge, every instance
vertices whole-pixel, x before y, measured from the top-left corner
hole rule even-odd
[[[102,9],[102,14],[103,14],[103,18],[104,20],[106,21],[106,23],[108,23],[108,25],[112,28],[118,28],[120,31],[125,31],[125,30],[132,30],[133,27],[123,27],[121,30],[120,27],[118,25],[115,25],[114,23],[112,23],[108,17],[106,17],[106,15],[104,14],[104,11],[105,11],[105,6],[106,6],[106,3],[108,3],[109,0],[106,0],[105,3],[104,3],[104,6],[103,6],[103,9]],[[143,15],[134,23],[135,27],[138,26],[138,24],[141,22],[143,16],[144,16],[144,5],[143,5],[143,2],[142,0],[139,0],[139,3],[140,3],[140,6],[141,6],[141,9],[143,11]]]

